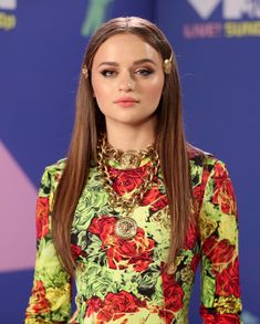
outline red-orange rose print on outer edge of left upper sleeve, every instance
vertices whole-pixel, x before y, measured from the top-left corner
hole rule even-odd
[[[39,197],[37,201],[37,238],[44,238],[49,231],[49,198]]]

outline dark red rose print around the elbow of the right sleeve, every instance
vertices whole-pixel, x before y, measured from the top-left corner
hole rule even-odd
[[[212,263],[227,263],[232,259],[235,245],[227,239],[218,241],[218,238],[212,236],[205,240],[202,251]]]

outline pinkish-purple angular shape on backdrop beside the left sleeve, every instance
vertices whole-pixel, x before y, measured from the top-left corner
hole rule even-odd
[[[32,268],[38,192],[2,142],[0,184],[0,272]]]

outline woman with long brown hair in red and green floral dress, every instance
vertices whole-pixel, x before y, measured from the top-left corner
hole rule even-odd
[[[103,24],[82,65],[67,158],[45,169],[25,323],[187,323],[201,261],[205,323],[239,323],[227,169],[186,143],[169,42],[141,18]]]

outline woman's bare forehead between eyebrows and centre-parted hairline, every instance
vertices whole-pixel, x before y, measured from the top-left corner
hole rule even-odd
[[[108,38],[96,51],[93,60],[100,61],[135,61],[150,59],[162,62],[160,54],[141,36],[131,33],[121,33]]]

